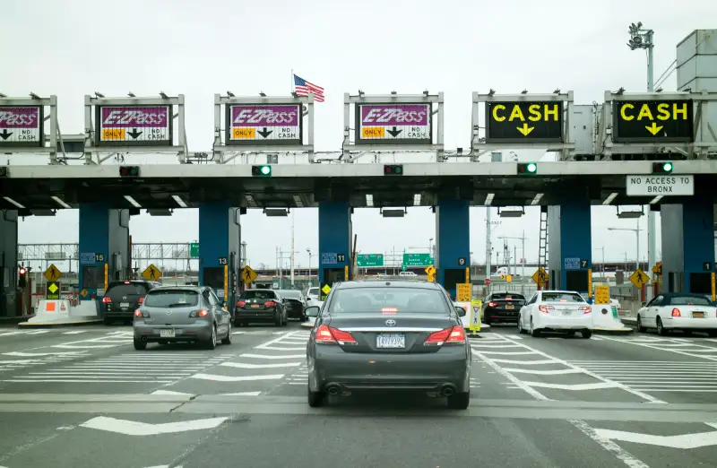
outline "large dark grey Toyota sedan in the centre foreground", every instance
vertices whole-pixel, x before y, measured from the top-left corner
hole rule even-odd
[[[470,402],[471,348],[455,308],[434,282],[334,283],[324,308],[307,308],[308,404],[326,394],[419,391]]]

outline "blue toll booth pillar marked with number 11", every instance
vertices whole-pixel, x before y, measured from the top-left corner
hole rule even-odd
[[[333,282],[350,280],[352,235],[353,228],[349,202],[319,202],[320,289],[323,289],[326,285],[331,287]],[[322,290],[321,298],[324,298],[324,296],[325,294]]]

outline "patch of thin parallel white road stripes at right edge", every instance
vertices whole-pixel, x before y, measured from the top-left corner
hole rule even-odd
[[[658,360],[571,361],[601,377],[646,393],[717,392],[717,362]]]

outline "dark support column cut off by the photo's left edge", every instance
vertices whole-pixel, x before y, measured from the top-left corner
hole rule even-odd
[[[0,316],[17,310],[17,212],[0,210]]]

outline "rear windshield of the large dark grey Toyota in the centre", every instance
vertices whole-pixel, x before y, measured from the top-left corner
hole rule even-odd
[[[329,314],[436,314],[450,312],[440,290],[413,288],[350,288],[336,290],[329,305]]]

